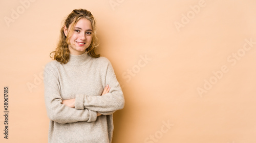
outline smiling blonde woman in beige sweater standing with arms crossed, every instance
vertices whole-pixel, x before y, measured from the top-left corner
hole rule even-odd
[[[73,10],[44,71],[49,142],[112,140],[113,113],[123,108],[124,97],[110,61],[95,53],[97,46],[93,15]]]

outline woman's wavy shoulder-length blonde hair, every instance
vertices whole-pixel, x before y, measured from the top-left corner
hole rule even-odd
[[[86,18],[90,20],[93,28],[92,42],[90,46],[86,49],[86,52],[88,52],[88,54],[92,58],[99,58],[100,54],[95,53],[95,48],[99,46],[99,41],[96,36],[97,31],[95,27],[95,20],[92,13],[84,9],[75,9],[68,15],[68,17],[65,20],[65,23],[60,29],[60,37],[59,37],[57,48],[55,49],[55,51],[52,51],[50,53],[51,58],[63,64],[66,64],[69,61],[69,53],[70,53],[69,38],[72,36],[74,32],[75,24],[82,18]],[[70,32],[68,33],[67,37],[65,36],[65,33],[64,33],[64,26],[66,26],[67,28],[70,27]],[[52,53],[54,53],[53,57],[51,56]]]

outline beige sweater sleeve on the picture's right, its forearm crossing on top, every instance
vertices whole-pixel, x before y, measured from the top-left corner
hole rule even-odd
[[[98,111],[102,115],[111,115],[116,110],[124,107],[124,96],[119,82],[116,79],[114,69],[108,61],[103,78],[105,78],[105,85],[109,84],[110,91],[102,96],[87,96],[87,95],[76,95],[75,108]],[[82,106],[83,105],[83,106]]]

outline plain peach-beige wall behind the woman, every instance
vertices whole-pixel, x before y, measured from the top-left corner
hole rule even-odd
[[[1,0],[0,142],[47,142],[42,71],[61,21],[79,8],[95,16],[98,52],[111,61],[125,96],[124,109],[114,113],[114,143],[255,142],[256,43],[246,42],[256,41],[255,6],[254,0]]]

